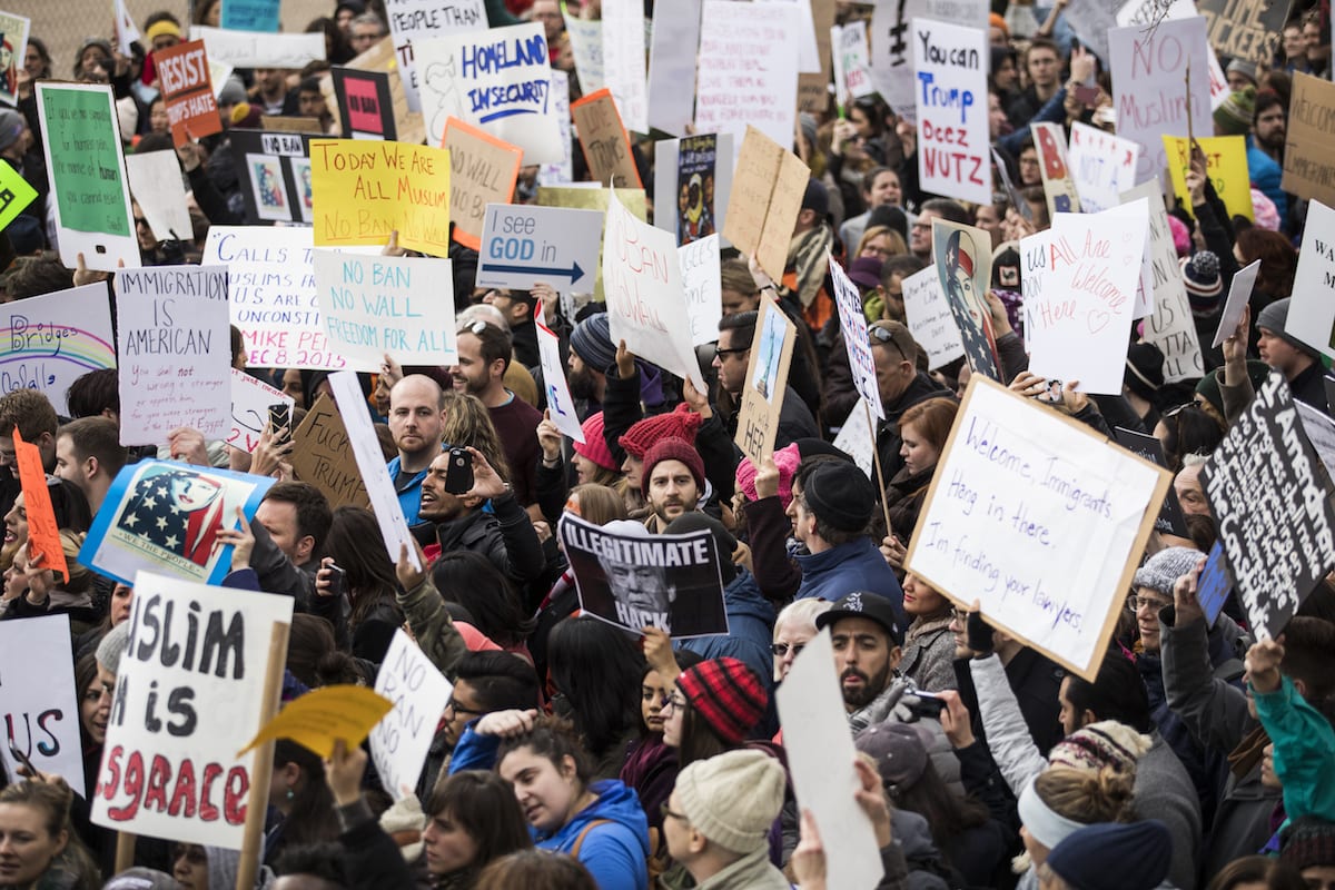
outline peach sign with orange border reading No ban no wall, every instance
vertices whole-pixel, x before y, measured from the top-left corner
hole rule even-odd
[[[450,152],[450,216],[454,240],[482,250],[482,228],[489,204],[509,204],[519,177],[523,149],[458,117],[445,125],[441,145]]]

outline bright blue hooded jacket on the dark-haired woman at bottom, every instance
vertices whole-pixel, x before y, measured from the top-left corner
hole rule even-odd
[[[649,821],[639,809],[639,798],[617,779],[594,782],[589,790],[598,799],[555,834],[538,837],[538,847],[571,855],[589,823],[603,821],[585,834],[575,858],[593,875],[598,890],[647,890]]]

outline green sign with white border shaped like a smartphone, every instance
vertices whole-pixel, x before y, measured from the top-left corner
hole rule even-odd
[[[139,266],[111,87],[45,80],[36,87],[60,262],[76,268],[83,254],[89,270]]]

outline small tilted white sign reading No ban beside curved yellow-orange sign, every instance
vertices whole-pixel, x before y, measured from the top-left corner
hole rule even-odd
[[[394,707],[371,729],[371,761],[380,786],[402,801],[413,795],[422,777],[422,765],[454,685],[413,638],[396,630],[375,675],[375,691]]]

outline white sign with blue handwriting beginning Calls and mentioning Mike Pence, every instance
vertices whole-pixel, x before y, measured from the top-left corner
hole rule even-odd
[[[211,226],[206,264],[227,266],[228,318],[254,368],[336,371],[347,360],[330,348],[315,299],[310,228]]]

